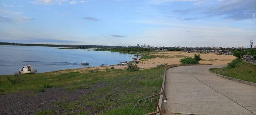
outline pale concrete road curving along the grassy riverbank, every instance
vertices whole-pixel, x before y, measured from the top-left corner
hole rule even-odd
[[[256,87],[208,72],[225,65],[179,66],[167,70],[164,115],[255,115]],[[163,98],[164,100],[165,98]]]

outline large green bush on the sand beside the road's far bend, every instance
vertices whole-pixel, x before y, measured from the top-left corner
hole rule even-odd
[[[200,54],[196,55],[194,54],[194,58],[192,57],[185,57],[180,60],[182,64],[199,64],[199,61],[201,60]]]

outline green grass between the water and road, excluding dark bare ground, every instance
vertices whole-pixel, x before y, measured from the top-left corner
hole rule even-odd
[[[56,110],[40,110],[36,115],[60,114],[58,108],[64,109],[63,114],[100,114],[124,115],[130,113],[146,114],[156,110],[155,100],[158,96],[144,100],[137,107],[138,100],[160,93],[162,77],[167,67],[127,71],[123,69],[102,69],[73,71],[63,70],[39,74],[3,75],[0,76],[0,94],[10,94],[21,90],[30,90],[35,94],[46,88],[62,87],[70,93],[77,89],[95,89],[84,94],[77,100],[54,102]],[[71,72],[70,72],[71,71]],[[73,72],[72,72],[73,71]],[[95,88],[95,84],[102,87]],[[31,94],[30,96],[33,96]],[[62,100],[62,101],[61,101]],[[85,108],[93,109],[85,109]]]

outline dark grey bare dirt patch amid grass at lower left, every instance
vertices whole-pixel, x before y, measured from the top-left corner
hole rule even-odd
[[[29,115],[39,110],[54,110],[57,114],[65,113],[62,107],[56,107],[57,102],[70,102],[80,99],[84,94],[93,93],[104,83],[96,83],[88,89],[76,89],[70,91],[64,88],[47,88],[44,92],[20,91],[13,94],[0,95],[1,115]],[[86,107],[84,110],[92,111],[93,108]],[[91,113],[93,114],[93,113]]]

